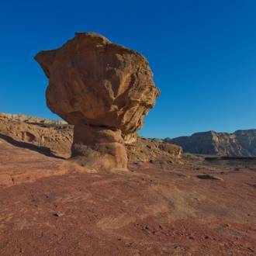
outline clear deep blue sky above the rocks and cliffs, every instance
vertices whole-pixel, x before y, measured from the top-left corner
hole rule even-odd
[[[150,61],[161,96],[145,137],[256,128],[256,1],[1,1],[0,112],[56,118],[33,56],[75,31],[102,33]]]

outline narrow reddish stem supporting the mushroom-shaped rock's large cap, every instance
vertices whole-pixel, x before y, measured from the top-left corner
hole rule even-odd
[[[126,170],[127,154],[121,130],[85,124],[74,126],[72,157],[88,168]]]

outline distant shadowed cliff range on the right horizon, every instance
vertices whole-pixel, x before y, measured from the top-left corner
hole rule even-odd
[[[164,141],[183,147],[184,152],[216,154],[230,157],[256,156],[256,130],[237,130],[234,133],[209,131],[189,137],[166,138]]]

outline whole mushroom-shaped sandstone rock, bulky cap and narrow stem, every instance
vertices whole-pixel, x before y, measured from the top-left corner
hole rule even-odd
[[[136,140],[159,95],[146,58],[97,33],[75,33],[35,59],[49,78],[47,106],[74,125],[72,157],[88,168],[127,170],[123,144]]]

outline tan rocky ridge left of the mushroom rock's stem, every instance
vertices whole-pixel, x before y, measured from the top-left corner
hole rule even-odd
[[[39,150],[70,157],[73,126],[26,115],[0,114],[0,137],[33,144]]]

